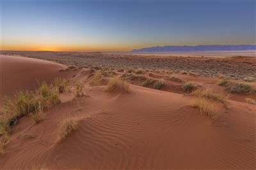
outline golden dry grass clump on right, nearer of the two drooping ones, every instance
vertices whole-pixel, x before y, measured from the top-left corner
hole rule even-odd
[[[216,110],[216,106],[205,100],[204,98],[196,98],[189,103],[189,106],[192,108],[198,108],[202,115],[205,115],[210,118],[214,118],[217,116],[218,110]]]

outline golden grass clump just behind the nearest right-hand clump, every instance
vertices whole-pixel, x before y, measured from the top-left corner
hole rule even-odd
[[[228,95],[218,94],[216,92],[212,92],[210,89],[196,89],[194,92],[191,92],[191,96],[195,97],[204,97],[211,100],[220,101],[225,106],[228,104]]]

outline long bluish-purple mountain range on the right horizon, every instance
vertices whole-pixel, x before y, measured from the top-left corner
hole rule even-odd
[[[200,52],[231,50],[256,50],[256,45],[152,46],[148,48],[134,49],[131,52]]]

